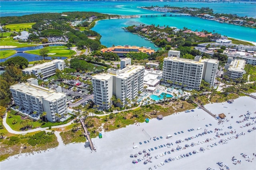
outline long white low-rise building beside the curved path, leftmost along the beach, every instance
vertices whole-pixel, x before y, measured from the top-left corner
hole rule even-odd
[[[46,112],[48,121],[58,122],[68,113],[66,95],[39,86],[37,79],[30,78],[27,83],[12,85],[10,91],[19,111],[34,120],[40,119],[40,115]]]

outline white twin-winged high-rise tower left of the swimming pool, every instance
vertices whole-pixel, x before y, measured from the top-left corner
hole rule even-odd
[[[125,104],[132,101],[143,91],[145,68],[141,65],[126,65],[123,69],[108,69],[92,77],[94,103],[99,109],[109,109],[112,96]]]

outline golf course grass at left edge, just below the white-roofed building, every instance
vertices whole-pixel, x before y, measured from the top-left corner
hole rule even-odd
[[[0,38],[0,45],[5,46],[5,48],[10,48],[10,46],[14,46],[14,48],[36,46],[36,44],[20,43],[18,40],[13,40],[12,37]]]

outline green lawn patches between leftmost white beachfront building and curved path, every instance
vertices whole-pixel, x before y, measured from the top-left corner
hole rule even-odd
[[[9,118],[9,116],[12,116]],[[13,121],[16,120],[17,123],[12,124]],[[22,117],[20,115],[12,115],[10,112],[7,113],[7,119],[6,123],[12,128],[12,130],[20,131],[20,128],[23,128],[24,125],[20,124],[21,121],[23,121]],[[32,125],[32,128],[41,127],[41,123],[39,121],[31,121],[30,125]]]

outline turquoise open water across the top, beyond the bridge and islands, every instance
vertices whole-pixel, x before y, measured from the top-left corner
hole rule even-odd
[[[253,2],[251,2],[253,3]],[[138,6],[179,6],[179,7],[209,7],[214,13],[237,14],[238,16],[255,17],[256,3],[205,3],[205,2],[148,2],[148,1],[1,1],[0,16],[21,16],[42,12],[67,12],[67,11],[94,11],[105,14],[146,14],[147,10]]]

